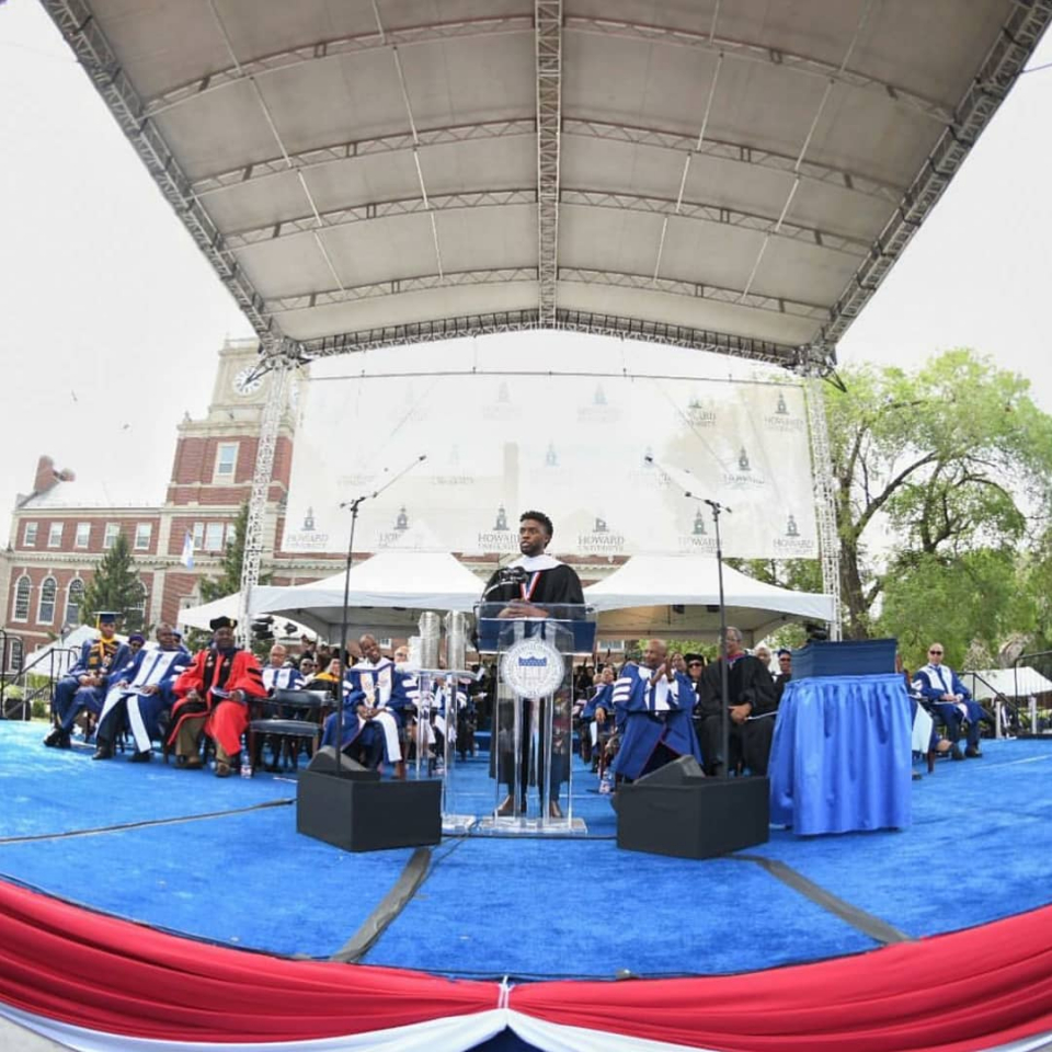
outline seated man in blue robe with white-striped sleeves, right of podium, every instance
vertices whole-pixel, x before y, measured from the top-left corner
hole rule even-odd
[[[701,762],[691,716],[696,695],[690,679],[668,660],[664,640],[647,643],[640,664],[629,662],[614,684],[615,712],[620,709],[620,748],[611,770],[620,780],[634,781],[679,756]],[[608,713],[596,706],[596,720]]]

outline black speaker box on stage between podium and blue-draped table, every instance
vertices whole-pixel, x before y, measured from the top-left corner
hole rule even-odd
[[[617,790],[618,847],[676,858],[714,858],[767,843],[770,782],[766,778],[688,777],[681,785],[653,782],[661,770]]]

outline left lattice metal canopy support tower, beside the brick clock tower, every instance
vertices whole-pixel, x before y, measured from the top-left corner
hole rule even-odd
[[[274,473],[274,453],[277,434],[285,411],[285,391],[288,374],[299,364],[299,348],[291,341],[283,341],[274,351],[264,352],[256,373],[271,373],[271,386],[260,421],[260,444],[255,450],[255,471],[252,476],[252,493],[249,496],[249,518],[244,527],[244,559],[241,563],[241,603],[238,609],[238,642],[251,644],[249,610],[252,590],[260,583],[260,565],[263,562],[266,502]]]

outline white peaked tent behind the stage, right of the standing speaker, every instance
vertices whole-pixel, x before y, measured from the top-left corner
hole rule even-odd
[[[723,567],[727,624],[762,639],[787,621],[828,621],[832,596],[791,592]],[[584,590],[599,613],[599,634],[678,639],[718,634],[720,591],[716,560],[698,556],[634,556]]]

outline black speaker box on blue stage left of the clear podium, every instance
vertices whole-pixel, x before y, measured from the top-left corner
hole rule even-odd
[[[376,771],[368,774],[375,776]],[[442,839],[442,782],[363,780],[300,771],[296,832],[345,851],[437,844]]]

